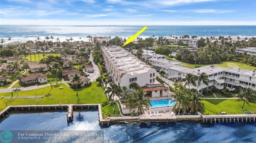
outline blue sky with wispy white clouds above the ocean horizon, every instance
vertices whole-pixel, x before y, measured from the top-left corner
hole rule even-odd
[[[0,24],[256,25],[256,0],[0,0]]]

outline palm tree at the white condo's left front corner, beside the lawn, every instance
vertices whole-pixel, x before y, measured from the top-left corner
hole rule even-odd
[[[108,100],[112,98],[113,108],[114,108],[114,96],[120,97],[123,93],[123,90],[117,86],[114,82],[109,84],[109,87],[104,91],[104,94],[108,95]]]

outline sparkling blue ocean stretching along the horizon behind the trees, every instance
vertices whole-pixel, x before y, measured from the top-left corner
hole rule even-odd
[[[148,27],[139,37],[146,38],[152,35],[159,36],[182,36],[196,35],[197,37],[231,36],[236,39],[256,36],[256,25],[145,25]],[[45,36],[53,36],[65,41],[71,37],[74,40],[88,41],[86,36],[118,36],[129,38],[134,35],[144,25],[70,25],[70,26],[49,26],[49,25],[0,25],[0,38],[20,39],[22,41],[36,40],[40,37],[44,40]],[[55,40],[53,40],[55,41]]]

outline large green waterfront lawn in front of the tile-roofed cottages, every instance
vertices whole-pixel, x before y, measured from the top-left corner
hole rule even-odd
[[[36,105],[36,100],[38,100],[38,104],[68,104],[68,99],[70,104],[93,104],[99,103],[99,98],[101,104],[107,101],[106,95],[103,95],[104,89],[102,85],[98,84],[99,82],[92,82],[91,86],[86,86],[78,89],[78,96],[76,96],[76,89],[71,89],[67,87],[64,83],[53,85],[53,89],[51,86],[47,86],[40,89],[33,89],[27,91],[19,91],[18,96],[41,96],[43,90],[43,98],[30,98],[30,99],[1,99],[0,100],[0,111],[2,111],[5,107],[5,100],[8,105]],[[59,89],[59,87],[64,87],[64,89]],[[0,93],[0,96],[12,96],[11,92]],[[16,96],[16,94],[14,95]],[[115,104],[115,111],[118,112],[118,107]],[[102,112],[104,112],[104,118],[107,117],[107,114],[110,112],[114,115],[113,107],[110,104],[104,105],[102,107]]]

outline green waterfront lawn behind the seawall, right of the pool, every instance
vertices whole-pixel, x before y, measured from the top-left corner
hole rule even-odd
[[[256,113],[256,104],[244,105],[244,110],[241,109],[243,102],[235,102],[235,99],[204,99],[204,109],[201,111],[204,115],[219,115],[220,112],[226,114],[244,114],[244,111],[249,111],[251,114]]]

